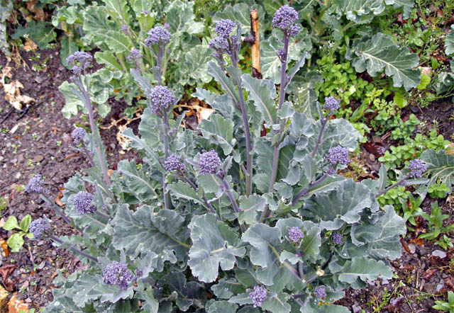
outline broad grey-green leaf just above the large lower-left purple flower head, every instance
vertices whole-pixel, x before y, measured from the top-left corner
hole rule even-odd
[[[116,249],[124,249],[127,255],[135,256],[141,251],[151,250],[174,262],[187,255],[187,225],[174,210],[162,209],[155,213],[149,205],[142,205],[133,211],[122,205],[113,224],[112,243]]]

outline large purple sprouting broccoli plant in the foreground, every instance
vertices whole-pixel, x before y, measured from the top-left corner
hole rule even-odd
[[[314,103],[318,120],[288,100],[287,86],[307,57],[288,59],[298,19],[287,5],[272,19],[282,35],[280,46],[270,43],[279,91],[275,81],[240,71],[240,25],[218,21],[208,71],[224,93],[196,89],[193,96],[216,111],[196,132],[182,127],[184,115],[173,115],[179,97],[161,81],[171,34],[148,32],[157,84],[131,69],[148,108],[138,134],[123,132],[140,160],[123,160],[104,177],[97,130],[73,133],[87,157],[98,157],[70,178],[62,198],[82,234],[57,237],[48,220],[33,228],[87,264],[57,280],[45,312],[349,312],[333,305],[345,288],[392,278],[388,260],[401,255],[406,228],[377,196],[425,182],[411,179],[425,164],[414,161],[389,188],[384,166],[375,181],[338,175],[360,134],[334,118],[336,98]],[[89,104],[82,87],[76,95]]]

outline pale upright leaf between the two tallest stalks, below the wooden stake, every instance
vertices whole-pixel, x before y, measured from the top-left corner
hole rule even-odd
[[[243,86],[254,101],[255,108],[262,113],[262,118],[268,127],[276,123],[277,107],[275,105],[276,87],[267,79],[256,79],[250,74],[241,76]]]

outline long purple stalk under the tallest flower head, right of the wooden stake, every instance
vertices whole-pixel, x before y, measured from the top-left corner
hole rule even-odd
[[[284,56],[281,59],[281,86],[279,91],[279,104],[277,106],[278,110],[282,108],[285,100],[285,89],[287,89],[287,54],[289,52],[289,36],[287,35],[287,30],[284,30]],[[280,123],[281,127],[279,127],[278,132],[281,133],[284,129],[284,125],[282,125],[279,117],[277,117],[277,123]],[[273,150],[272,155],[272,171],[271,171],[271,178],[270,178],[270,186],[268,187],[268,192],[270,193],[275,186],[276,178],[277,178],[277,168],[279,167],[279,143],[280,139],[276,142],[276,145]],[[260,215],[259,223],[263,222],[263,219],[267,217],[270,213],[270,207],[267,205],[265,210],[263,210],[262,214]]]

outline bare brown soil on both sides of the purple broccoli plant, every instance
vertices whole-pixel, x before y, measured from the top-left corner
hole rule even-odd
[[[1,217],[6,220],[14,215],[21,220],[27,214],[33,219],[46,215],[52,220],[57,235],[70,235],[74,230],[37,195],[24,193],[23,186],[35,173],[41,173],[48,183],[50,195],[60,199],[67,179],[88,166],[84,157],[70,148],[70,133],[74,125],[87,125],[87,120],[82,115],[69,120],[61,115],[65,100],[58,86],[67,81],[71,73],[62,67],[58,48],[40,51],[41,61],[30,61],[34,56],[34,52],[22,51],[21,57],[27,66],[16,66],[0,55],[1,68],[13,67],[10,81],[21,81],[21,94],[35,99],[23,116],[16,110],[10,113],[6,101],[0,105],[0,198],[7,200]],[[45,62],[45,59],[48,60]],[[33,71],[33,64],[40,62],[45,62],[45,68]],[[0,98],[4,97],[4,91],[0,89]],[[125,104],[114,99],[110,99],[109,104],[112,110],[101,121],[101,137],[110,168],[115,169],[118,161],[136,155],[131,151],[123,152],[116,138],[118,129],[115,122],[122,120],[124,124],[122,112]],[[445,108],[441,110],[442,115],[440,108]],[[422,109],[418,118],[428,123],[438,118],[441,121],[438,130],[448,139],[454,132],[454,123],[448,119],[452,111],[449,101],[434,103]],[[139,120],[134,120],[128,127],[137,128],[138,123]],[[363,152],[360,157],[367,159],[372,170],[368,175],[375,175],[380,164],[370,157],[372,153],[365,147]],[[423,210],[430,212],[433,201],[430,198],[424,200]],[[443,213],[450,215],[448,223],[453,223],[453,203],[443,200],[439,205],[443,207]],[[362,290],[346,290],[345,297],[337,302],[339,305],[345,305],[352,312],[361,312],[362,309],[364,312],[437,312],[432,309],[434,299],[446,300],[446,292],[454,290],[454,263],[451,261],[454,249],[444,251],[427,240],[418,239],[427,225],[423,220],[417,222],[415,232],[409,232],[402,239],[402,257],[390,262],[395,278],[370,282]],[[0,231],[0,238],[6,240],[10,235],[11,232]],[[57,273],[72,273],[82,264],[77,256],[52,247],[50,241],[25,241],[24,248],[17,253],[7,249],[1,252],[0,283],[10,292],[16,292],[17,297],[30,307],[44,307],[52,300],[52,280]]]

